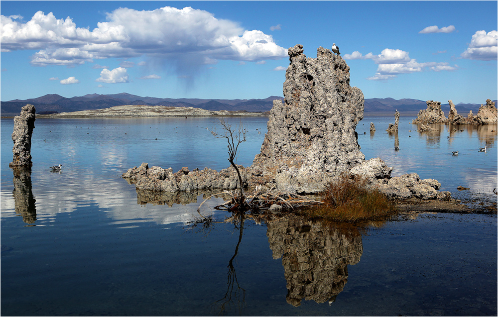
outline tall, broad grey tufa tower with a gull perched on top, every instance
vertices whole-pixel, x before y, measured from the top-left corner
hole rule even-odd
[[[296,45],[289,56],[284,102],[273,102],[261,153],[249,168],[250,185],[316,193],[365,159],[355,132],[364,96],[349,85],[346,62],[328,49],[319,47],[314,59]]]

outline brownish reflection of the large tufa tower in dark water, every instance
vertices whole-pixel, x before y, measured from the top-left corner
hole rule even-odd
[[[362,236],[356,228],[340,228],[299,217],[269,221],[268,242],[273,258],[282,257],[287,280],[287,303],[335,300],[348,281],[348,264],[363,253]]]

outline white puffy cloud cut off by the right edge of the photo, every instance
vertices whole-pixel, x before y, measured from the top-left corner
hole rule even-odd
[[[498,32],[477,31],[472,35],[469,47],[460,56],[483,61],[497,60]]]

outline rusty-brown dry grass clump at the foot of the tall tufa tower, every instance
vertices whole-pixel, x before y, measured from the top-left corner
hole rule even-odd
[[[323,204],[302,210],[310,218],[361,222],[381,220],[394,213],[394,205],[378,190],[368,187],[365,178],[351,179],[343,173],[320,194]]]

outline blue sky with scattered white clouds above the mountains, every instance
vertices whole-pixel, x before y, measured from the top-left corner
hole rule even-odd
[[[190,8],[188,8],[190,7]],[[498,95],[497,1],[0,1],[0,99],[282,96],[336,43],[365,98]]]

